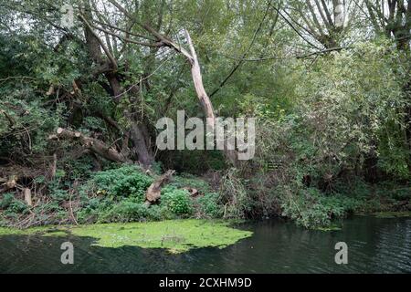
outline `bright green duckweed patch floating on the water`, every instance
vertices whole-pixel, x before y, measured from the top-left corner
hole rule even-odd
[[[182,253],[191,248],[233,245],[252,232],[229,226],[229,222],[211,220],[166,220],[128,224],[90,224],[79,226],[36,227],[26,230],[0,228],[0,235],[76,235],[92,237],[92,245],[101,247],[139,246],[164,248]]]

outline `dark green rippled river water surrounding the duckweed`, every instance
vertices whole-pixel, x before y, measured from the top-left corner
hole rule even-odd
[[[354,217],[342,231],[309,231],[269,220],[243,224],[254,235],[224,249],[180,255],[161,249],[90,246],[87,237],[0,235],[0,273],[411,273],[411,218]],[[74,265],[60,245],[74,245]],[[348,245],[348,264],[334,245]]]

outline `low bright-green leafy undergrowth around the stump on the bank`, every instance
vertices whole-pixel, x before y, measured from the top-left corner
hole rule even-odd
[[[192,214],[220,217],[223,213],[219,195],[211,193],[210,185],[193,175],[174,176],[163,187],[160,202],[148,206],[144,194],[151,183],[153,178],[135,166],[94,173],[80,186],[81,207],[76,214],[79,223],[163,220]],[[200,194],[192,198],[184,187]],[[56,199],[64,194],[57,190]]]

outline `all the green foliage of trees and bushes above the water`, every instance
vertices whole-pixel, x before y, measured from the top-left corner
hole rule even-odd
[[[70,222],[67,205],[72,200],[79,222],[282,213],[312,227],[353,210],[409,208],[410,49],[372,31],[373,24],[355,20],[373,17],[355,17],[358,9],[351,9],[349,27],[325,40],[310,36],[315,45],[342,49],[310,54],[306,39],[295,32],[301,27],[290,27],[265,0],[127,3],[136,24],[157,24],[185,48],[181,31],[190,32],[217,116],[257,118],[256,157],[234,169],[222,151],[153,147],[159,118],[175,117],[183,109],[187,117],[205,118],[193,98],[195,87],[183,57],[138,44],[125,46],[105,35],[102,40],[118,65],[108,71],[111,65],[103,64],[107,51],[98,47],[101,56],[92,56],[94,48],[84,41],[84,27],[76,17],[71,29],[58,26],[62,3],[0,4],[0,174],[16,174],[3,173],[5,163],[41,174],[33,184],[26,182],[39,186],[38,195],[45,199],[31,210],[36,222]],[[306,23],[292,8],[308,13],[307,5],[285,1],[277,8],[281,5],[291,8],[290,17],[301,26]],[[105,14],[100,21],[130,25],[121,13]],[[131,36],[151,37],[141,26],[130,29]],[[113,99],[115,85],[125,89],[120,99]],[[154,174],[166,169],[196,175],[214,171],[219,193],[184,173],[163,189],[161,203],[147,207],[144,193],[153,177],[142,169],[86,153],[88,147],[78,139],[49,139],[58,127],[79,130],[112,150],[130,150],[127,158],[137,161],[140,146],[130,132],[133,122],[146,126],[144,136],[158,160]],[[57,175],[51,179],[54,154]],[[265,169],[268,162],[275,169]],[[100,167],[105,171],[93,172]],[[199,194],[191,197],[185,187]],[[17,197],[2,195],[1,218],[27,212]]]

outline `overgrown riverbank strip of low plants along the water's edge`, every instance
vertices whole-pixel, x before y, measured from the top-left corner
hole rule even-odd
[[[23,193],[2,193],[0,226],[25,229],[37,225],[157,222],[174,219],[289,218],[305,228],[330,230],[348,214],[408,214],[411,188],[395,183],[358,181],[336,184],[332,192],[314,187],[258,183],[236,172],[208,176],[176,174],[163,185],[160,199],[147,203],[146,192],[160,172],[120,165],[81,173],[70,180],[61,172],[50,182],[37,178],[26,203]],[[236,176],[237,175],[237,176]],[[267,177],[266,175],[265,177]],[[395,215],[394,215],[395,216]]]

